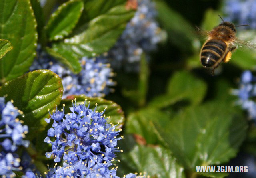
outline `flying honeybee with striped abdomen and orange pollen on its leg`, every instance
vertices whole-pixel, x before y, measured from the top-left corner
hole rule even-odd
[[[212,75],[214,75],[214,69],[222,61],[227,63],[231,59],[232,51],[236,49],[234,42],[252,46],[236,38],[236,27],[238,26],[231,22],[225,22],[220,15],[219,17],[222,23],[214,27],[212,31],[206,32],[208,39],[204,42],[200,51],[200,61],[203,67],[212,68]]]

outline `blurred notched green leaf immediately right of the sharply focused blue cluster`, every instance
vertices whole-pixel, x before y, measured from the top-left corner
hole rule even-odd
[[[162,143],[162,138],[154,126],[154,121],[167,123],[170,114],[154,108],[145,108],[130,113],[126,121],[126,133],[139,134],[143,136],[148,144]]]

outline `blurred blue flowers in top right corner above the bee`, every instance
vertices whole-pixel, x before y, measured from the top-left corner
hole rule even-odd
[[[247,28],[256,28],[255,0],[226,0],[224,4],[225,20],[236,25],[249,24]]]

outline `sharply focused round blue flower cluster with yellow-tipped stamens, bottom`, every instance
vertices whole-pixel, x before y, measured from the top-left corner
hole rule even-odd
[[[98,112],[96,107],[92,110],[89,106],[86,107],[85,103],[76,105],[75,102],[70,107],[71,112],[65,116],[57,109],[54,111],[50,118],[54,123],[44,140],[52,144],[52,152],[47,152],[46,157],[50,158],[53,154],[55,162],[63,157],[65,162],[72,164],[78,160],[86,161],[86,164],[92,164],[90,160],[94,160],[98,164],[110,162],[116,157],[115,152],[119,151],[117,140],[123,138],[118,137],[121,129],[116,131],[116,125],[106,122],[105,110]],[[63,117],[54,117],[55,113]],[[56,140],[51,141],[49,137]]]

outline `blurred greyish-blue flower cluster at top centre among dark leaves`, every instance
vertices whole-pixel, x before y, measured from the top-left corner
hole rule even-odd
[[[138,7],[134,17],[127,24],[120,39],[108,52],[113,67],[120,68],[122,64],[140,61],[143,52],[156,49],[156,44],[162,40],[161,29],[156,22],[157,13],[154,2],[151,0],[137,2]]]

